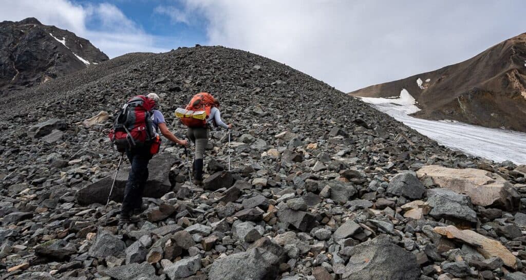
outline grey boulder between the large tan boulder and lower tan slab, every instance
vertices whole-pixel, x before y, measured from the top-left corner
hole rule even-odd
[[[457,194],[450,189],[433,188],[428,191],[428,204],[434,218],[451,218],[477,223],[477,213],[473,210],[467,195]]]

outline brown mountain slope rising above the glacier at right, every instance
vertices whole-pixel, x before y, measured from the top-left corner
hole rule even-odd
[[[422,109],[414,116],[526,132],[526,33],[467,61],[350,94],[390,97],[403,88]]]

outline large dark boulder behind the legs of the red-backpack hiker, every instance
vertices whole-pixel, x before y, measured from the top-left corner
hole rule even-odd
[[[175,164],[176,158],[171,154],[159,154],[154,156],[148,164],[148,182],[144,189],[144,197],[159,198],[171,191],[170,184],[170,168]],[[115,186],[113,188],[111,200],[122,202],[124,196],[124,188],[128,180],[129,168],[122,168],[117,173]],[[76,194],[77,202],[80,205],[88,205],[92,203],[106,204],[110,188],[113,183],[113,175],[104,177],[99,181],[89,184],[81,189]]]

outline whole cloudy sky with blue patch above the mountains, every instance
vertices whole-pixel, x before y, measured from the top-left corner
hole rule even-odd
[[[0,21],[36,17],[110,57],[223,45],[344,92],[461,62],[526,32],[526,1],[0,0]]]

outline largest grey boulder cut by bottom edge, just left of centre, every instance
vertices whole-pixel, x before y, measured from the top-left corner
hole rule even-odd
[[[209,280],[274,280],[279,264],[285,261],[285,249],[263,237],[246,252],[218,258],[210,265]]]

